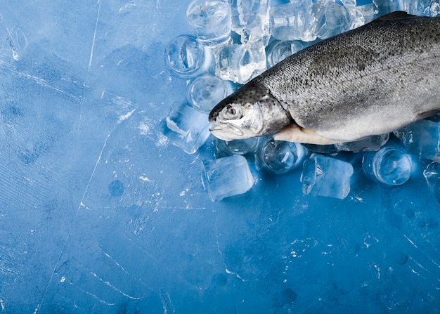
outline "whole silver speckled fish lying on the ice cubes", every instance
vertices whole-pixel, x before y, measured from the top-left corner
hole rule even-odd
[[[318,145],[389,133],[440,112],[440,17],[396,11],[269,68],[209,113],[221,140]]]

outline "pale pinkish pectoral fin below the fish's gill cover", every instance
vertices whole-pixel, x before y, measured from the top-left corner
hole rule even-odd
[[[287,142],[328,145],[341,143],[340,140],[332,140],[319,135],[313,129],[305,129],[296,123],[285,126],[281,131],[273,135],[274,140],[285,140]]]

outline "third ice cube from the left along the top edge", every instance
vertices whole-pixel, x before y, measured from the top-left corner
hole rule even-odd
[[[272,37],[280,40],[315,40],[311,4],[311,0],[292,0],[289,4],[271,7],[269,20]]]

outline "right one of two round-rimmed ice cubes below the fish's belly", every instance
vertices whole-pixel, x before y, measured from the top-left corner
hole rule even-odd
[[[386,147],[365,152],[362,168],[367,176],[385,185],[402,185],[411,176],[411,161],[402,150]]]

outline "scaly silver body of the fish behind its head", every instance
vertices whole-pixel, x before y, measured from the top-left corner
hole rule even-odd
[[[325,138],[394,131],[440,110],[440,18],[395,12],[290,56],[255,79]]]

